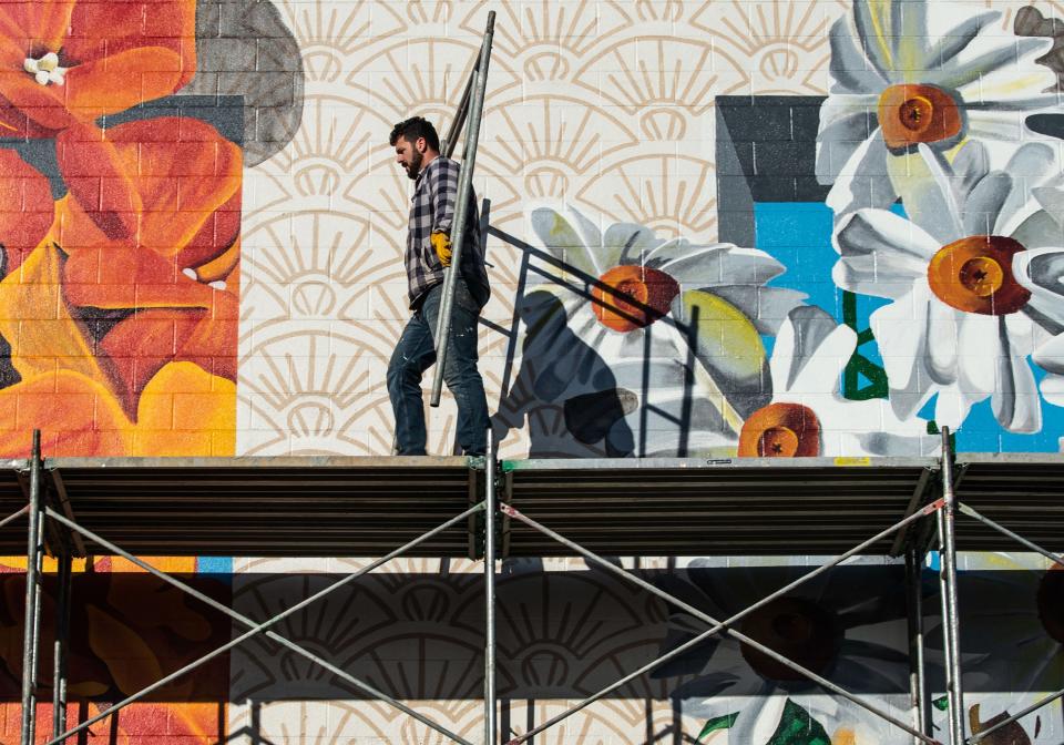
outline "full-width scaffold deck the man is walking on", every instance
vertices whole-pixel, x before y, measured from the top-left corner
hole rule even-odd
[[[28,461],[3,466],[0,517],[25,504]],[[79,524],[142,555],[368,557],[479,499],[474,466],[466,458],[58,458],[45,461],[45,482],[62,484]],[[934,458],[508,460],[503,470],[503,499],[610,555],[838,553],[938,489]],[[1064,548],[1064,458],[961,453],[958,474],[960,501]],[[0,532],[6,554],[25,551],[18,525]],[[469,555],[471,528],[410,555]],[[522,523],[505,529],[508,555],[566,553]],[[958,535],[961,550],[1019,550],[963,517]],[[892,542],[869,553],[889,553]],[[86,540],[85,550],[100,549]]]

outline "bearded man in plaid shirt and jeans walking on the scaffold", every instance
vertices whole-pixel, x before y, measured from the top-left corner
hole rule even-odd
[[[396,162],[416,184],[405,258],[412,315],[388,364],[388,394],[396,416],[398,455],[423,456],[428,435],[421,376],[436,361],[434,337],[443,300],[443,269],[451,264],[450,235],[458,201],[459,164],[440,154],[436,127],[421,116],[396,124],[388,142],[396,149]],[[477,369],[477,320],[491,290],[472,192],[469,198],[443,380],[458,404],[458,442],[462,451],[482,456],[489,420],[484,381]]]

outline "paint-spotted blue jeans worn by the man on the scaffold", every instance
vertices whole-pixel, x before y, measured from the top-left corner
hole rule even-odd
[[[396,442],[400,456],[426,455],[424,408],[421,376],[436,361],[436,324],[440,316],[443,285],[432,287],[402,329],[388,363],[388,394],[396,415]],[[469,456],[482,456],[487,447],[488,398],[477,369],[477,318],[480,309],[463,282],[454,285],[451,338],[443,380],[458,404],[458,443]]]

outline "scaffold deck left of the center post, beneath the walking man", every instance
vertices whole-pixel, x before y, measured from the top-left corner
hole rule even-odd
[[[11,465],[0,474],[0,514],[27,500],[29,461]],[[478,501],[483,465],[474,466],[463,457],[49,458],[42,476],[66,517],[136,555],[376,557]],[[409,555],[468,555],[469,534],[456,527]],[[109,553],[82,540],[84,552]],[[0,533],[0,552],[25,553],[25,539]]]

